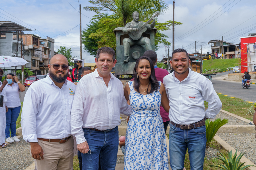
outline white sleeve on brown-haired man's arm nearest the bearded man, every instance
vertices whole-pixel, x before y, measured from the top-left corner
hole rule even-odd
[[[84,83],[84,82],[83,82]],[[76,144],[83,143],[86,141],[83,132],[83,116],[84,116],[84,100],[85,90],[84,84],[81,82],[77,83],[76,93],[73,100],[71,109],[71,134],[76,137]]]

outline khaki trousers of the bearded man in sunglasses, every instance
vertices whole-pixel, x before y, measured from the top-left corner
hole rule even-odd
[[[44,160],[34,159],[37,170],[70,170],[73,167],[73,136],[65,143],[38,140],[44,151]],[[29,147],[30,150],[30,147]],[[30,155],[31,150],[30,150]]]

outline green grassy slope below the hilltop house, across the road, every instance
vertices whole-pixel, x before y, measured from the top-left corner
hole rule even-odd
[[[228,67],[238,66],[238,62],[241,59],[214,59],[214,60],[204,60],[203,61],[203,73],[217,73],[222,71],[227,71]],[[213,71],[211,71],[213,70]],[[210,72],[208,72],[210,71]]]

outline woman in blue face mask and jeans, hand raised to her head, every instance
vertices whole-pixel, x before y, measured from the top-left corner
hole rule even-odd
[[[19,112],[21,112],[21,101],[19,100],[19,91],[25,91],[26,87],[19,82],[18,77],[14,74],[9,73],[6,75],[6,80],[8,84],[5,85],[6,88],[6,107],[8,111],[6,112],[6,127],[5,127],[5,138],[6,142],[19,142],[16,137],[16,121],[19,117]],[[11,129],[11,136],[10,136]]]

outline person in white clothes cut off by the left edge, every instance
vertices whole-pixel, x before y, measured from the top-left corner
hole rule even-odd
[[[5,85],[7,84],[7,80],[4,80],[3,83],[1,82],[2,77],[3,77],[3,70],[0,69],[0,95],[4,97],[4,103],[3,107],[0,107],[0,147],[4,148],[8,146],[7,143],[5,143],[5,126],[6,126],[6,112],[8,108],[6,107],[5,103],[7,102],[7,97],[6,97],[6,88]]]

